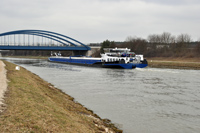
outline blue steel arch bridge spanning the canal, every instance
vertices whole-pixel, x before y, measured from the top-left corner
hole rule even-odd
[[[44,30],[16,30],[0,34],[0,50],[70,50],[86,53],[87,45],[59,33]]]

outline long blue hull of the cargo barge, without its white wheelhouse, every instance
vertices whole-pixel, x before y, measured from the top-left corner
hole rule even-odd
[[[68,63],[68,64],[76,64],[76,65],[87,65],[87,66],[95,66],[95,67],[106,67],[106,68],[123,68],[123,69],[133,69],[133,68],[144,68],[148,66],[147,63],[141,64],[120,64],[120,63],[102,63],[101,59],[72,59],[72,58],[62,58],[62,57],[50,57],[49,61],[52,62],[60,62],[60,63]]]

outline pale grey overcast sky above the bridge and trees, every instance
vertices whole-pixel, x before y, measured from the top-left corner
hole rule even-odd
[[[0,0],[0,33],[38,29],[83,43],[187,33],[200,40],[200,0]]]

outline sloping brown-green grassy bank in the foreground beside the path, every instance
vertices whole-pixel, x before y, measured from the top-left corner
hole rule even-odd
[[[4,63],[9,82],[0,132],[122,132],[37,75]]]

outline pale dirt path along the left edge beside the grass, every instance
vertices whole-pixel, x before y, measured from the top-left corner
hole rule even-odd
[[[0,60],[0,112],[2,112],[3,97],[7,89],[5,64]]]

